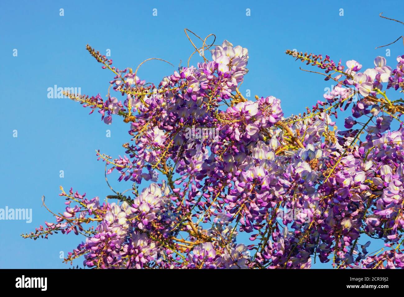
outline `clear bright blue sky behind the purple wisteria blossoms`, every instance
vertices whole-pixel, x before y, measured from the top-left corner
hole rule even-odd
[[[41,196],[55,212],[63,211],[59,185],[71,186],[88,197],[111,194],[104,181],[105,163],[97,161],[95,150],[118,156],[130,137],[120,118],[112,125],[101,122],[95,112],[69,99],[48,99],[47,89],[80,87],[82,94],[107,94],[112,73],[86,49],[90,44],[101,53],[111,51],[114,65],[133,67],[157,57],[177,67],[186,63],[193,48],[185,27],[200,36],[217,35],[217,42],[229,40],[248,48],[250,72],[242,91],[273,95],[282,100],[285,116],[304,112],[305,107],[323,99],[322,76],[299,70],[305,66],[284,54],[297,49],[330,55],[334,61],[358,60],[373,67],[377,55],[396,57],[404,53],[402,42],[375,49],[403,35],[400,23],[381,19],[404,19],[399,1],[1,1],[0,2],[0,208],[32,209],[32,223],[0,221],[0,268],[68,268],[60,252],[72,251],[81,238],[56,234],[48,240],[23,239],[20,234],[34,230],[53,217],[41,207]],[[64,16],[59,9],[64,9]],[[157,16],[153,9],[157,8]],[[246,9],[250,16],[246,16]],[[340,16],[340,9],[343,16]],[[17,57],[13,50],[17,49]],[[192,59],[196,64],[198,61]],[[305,69],[310,69],[306,66]],[[158,84],[175,69],[159,61],[143,65],[138,75]],[[343,118],[343,116],[341,116]],[[106,137],[106,130],[111,137]],[[13,137],[13,130],[18,137]],[[64,171],[64,178],[59,171]],[[130,183],[109,180],[122,192]],[[363,242],[364,243],[364,242]],[[362,244],[363,244],[362,243]],[[372,249],[369,248],[369,251]],[[81,265],[82,260],[77,264]],[[318,261],[317,261],[318,262]],[[314,268],[331,268],[317,263]]]

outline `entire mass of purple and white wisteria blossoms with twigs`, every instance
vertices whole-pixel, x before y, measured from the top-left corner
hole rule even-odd
[[[88,268],[305,269],[316,260],[403,268],[404,108],[386,91],[403,92],[404,55],[395,68],[377,57],[363,71],[355,60],[286,51],[337,85],[285,118],[279,99],[240,93],[246,48],[227,40],[203,47],[210,60],[202,55],[197,67],[155,85],[87,46],[114,73],[117,95],[66,95],[106,124],[119,116],[128,123],[124,157],[97,157],[107,174],[133,183],[130,195],[114,191],[102,201],[61,187],[63,214],[23,236],[82,234],[65,262],[83,257]],[[335,125],[339,112],[347,113],[345,130]],[[187,137],[191,127],[216,137]],[[242,232],[250,242],[240,242]],[[369,237],[384,244],[375,253]]]

